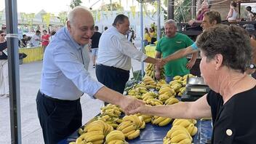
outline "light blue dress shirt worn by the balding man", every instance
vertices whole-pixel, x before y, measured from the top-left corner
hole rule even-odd
[[[40,91],[60,100],[93,97],[103,87],[89,75],[89,53],[71,37],[68,28],[57,31],[44,52]]]

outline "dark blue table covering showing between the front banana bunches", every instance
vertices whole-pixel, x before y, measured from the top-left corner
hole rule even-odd
[[[212,121],[198,121],[196,126],[198,127],[198,133],[193,136],[194,144],[203,144],[207,140],[210,140],[212,136]],[[168,124],[164,127],[158,127],[151,123],[146,124],[145,129],[140,129],[140,136],[134,140],[127,140],[130,144],[159,144],[163,143],[163,138],[167,135],[169,129],[171,129],[172,124]],[[76,141],[79,137],[78,129],[73,132],[72,135],[67,137],[65,140],[61,140],[59,144],[70,143],[71,141]]]

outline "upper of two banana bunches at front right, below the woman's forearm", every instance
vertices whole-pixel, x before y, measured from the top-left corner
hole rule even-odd
[[[188,133],[193,136],[196,135],[197,127],[195,126],[196,120],[195,119],[175,119],[172,125],[179,125],[181,127],[185,127],[188,130]]]

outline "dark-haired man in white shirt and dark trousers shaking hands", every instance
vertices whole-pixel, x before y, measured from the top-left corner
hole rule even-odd
[[[100,37],[96,76],[106,87],[123,93],[129,79],[131,58],[145,63],[163,65],[163,61],[146,56],[127,40],[129,18],[117,15],[113,26]]]

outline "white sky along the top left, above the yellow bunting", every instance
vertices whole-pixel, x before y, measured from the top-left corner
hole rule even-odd
[[[84,7],[91,7],[92,4],[99,0],[81,0],[83,3],[81,4]],[[112,0],[112,2],[119,2],[119,0]],[[128,1],[128,5],[127,5]],[[133,4],[138,6],[136,0],[121,0],[121,4],[124,9],[129,9],[129,6]],[[110,0],[100,0],[95,4],[92,9],[97,9],[101,4],[110,3]],[[71,8],[69,7],[71,0],[17,0],[17,12],[25,12],[25,13],[37,13],[41,9],[44,9],[46,12],[54,13],[57,15],[58,12],[69,11]],[[0,11],[5,7],[5,0],[0,0]]]

